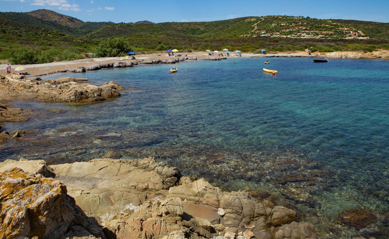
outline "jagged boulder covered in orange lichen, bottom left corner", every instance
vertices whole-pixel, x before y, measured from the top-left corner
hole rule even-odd
[[[65,185],[14,168],[0,173],[0,238],[105,238]]]

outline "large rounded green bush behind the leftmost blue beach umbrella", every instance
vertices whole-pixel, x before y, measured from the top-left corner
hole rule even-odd
[[[124,38],[110,38],[96,47],[95,57],[124,56],[132,51],[130,44]]]

